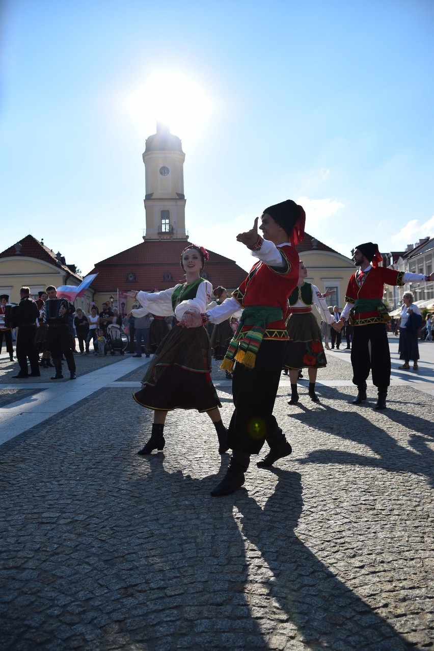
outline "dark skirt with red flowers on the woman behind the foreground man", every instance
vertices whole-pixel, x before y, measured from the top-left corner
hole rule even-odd
[[[323,368],[327,359],[316,318],[308,314],[291,314],[286,324],[289,340],[283,357],[283,368]]]

